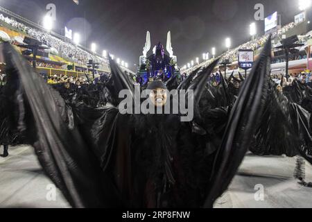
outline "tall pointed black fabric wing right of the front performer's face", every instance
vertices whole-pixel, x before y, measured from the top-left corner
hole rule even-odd
[[[252,142],[256,131],[254,125],[259,122],[266,101],[270,44],[269,38],[229,114],[220,148],[214,158],[205,207],[211,207],[227,189]]]

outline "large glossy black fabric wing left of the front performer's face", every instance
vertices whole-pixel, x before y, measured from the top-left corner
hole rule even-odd
[[[46,85],[10,44],[5,44],[3,53],[10,122],[27,131],[44,171],[65,198],[73,207],[123,205],[112,178],[101,169],[106,160],[101,163],[92,146],[88,146],[90,142],[84,139],[85,131],[80,131],[76,123],[78,120],[72,114],[76,110],[68,107],[60,94]],[[99,124],[114,128],[112,119],[116,115],[109,116],[105,110],[99,113],[103,114],[103,122]]]

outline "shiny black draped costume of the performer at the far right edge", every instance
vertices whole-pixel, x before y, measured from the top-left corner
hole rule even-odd
[[[300,92],[293,92],[297,96],[289,97],[287,91],[292,88],[297,91],[297,86],[286,88],[287,99],[273,83],[270,85],[266,108],[250,151],[258,155],[284,154],[288,157],[300,154],[311,163],[311,113],[297,104],[302,97]]]

